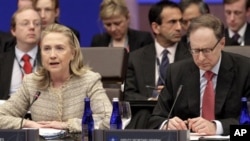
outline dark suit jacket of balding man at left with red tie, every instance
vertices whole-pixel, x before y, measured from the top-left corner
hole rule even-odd
[[[10,84],[12,69],[15,60],[16,39],[11,41],[0,49],[0,99],[8,99],[10,93]],[[41,64],[40,50],[37,54],[37,64]]]

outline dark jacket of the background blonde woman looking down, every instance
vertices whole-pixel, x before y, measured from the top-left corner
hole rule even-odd
[[[111,41],[111,36],[108,33],[98,34],[93,36],[91,41],[92,47],[108,47]],[[128,29],[128,45],[129,50],[134,51],[145,45],[151,44],[154,39],[149,32]]]

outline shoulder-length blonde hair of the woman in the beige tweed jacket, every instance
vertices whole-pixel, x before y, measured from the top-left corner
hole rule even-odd
[[[83,56],[81,52],[81,47],[76,35],[66,26],[60,24],[51,24],[47,26],[41,34],[41,43],[46,35],[50,33],[60,33],[68,38],[70,48],[75,52],[73,60],[70,62],[70,73],[73,76],[81,76],[90,68],[83,65]],[[41,56],[42,57],[42,56]],[[42,64],[42,63],[41,63]],[[46,89],[50,85],[49,72],[43,65],[38,67],[35,75],[37,76],[38,86],[41,89]]]

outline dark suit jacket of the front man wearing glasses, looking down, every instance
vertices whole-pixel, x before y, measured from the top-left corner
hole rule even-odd
[[[167,119],[180,85],[183,89],[171,117],[187,120],[200,116],[200,73],[193,59],[171,64],[166,84],[149,120],[149,128],[159,128]],[[241,97],[250,96],[249,58],[222,52],[215,91],[215,119],[222,123],[224,134],[228,135],[230,124],[238,124]]]

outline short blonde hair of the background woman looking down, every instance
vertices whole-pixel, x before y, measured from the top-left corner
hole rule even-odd
[[[124,15],[129,17],[129,10],[124,0],[103,0],[100,5],[101,20],[112,16]]]

